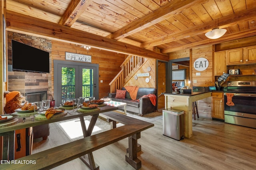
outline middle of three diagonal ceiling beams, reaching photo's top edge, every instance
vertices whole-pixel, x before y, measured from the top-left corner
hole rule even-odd
[[[158,8],[150,14],[122,27],[122,29],[112,33],[108,37],[116,40],[122,39],[141,31],[142,29],[159,23],[160,21],[166,20],[175,13],[179,13],[190,6],[202,4],[203,2],[205,2],[205,0],[172,0],[168,4]]]

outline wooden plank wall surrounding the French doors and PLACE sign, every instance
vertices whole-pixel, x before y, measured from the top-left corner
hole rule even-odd
[[[108,93],[110,92],[110,86],[108,84],[121,70],[120,66],[125,59],[125,55],[94,48],[91,48],[90,53],[87,54],[87,51],[84,48],[81,48],[80,45],[74,45],[60,41],[52,41],[52,93],[54,91],[53,60],[64,61],[65,52],[92,55],[92,64],[99,64],[99,98],[108,96]],[[103,80],[103,82],[100,83],[100,80]]]

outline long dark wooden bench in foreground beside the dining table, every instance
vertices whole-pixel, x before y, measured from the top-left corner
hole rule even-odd
[[[126,115],[120,115],[120,121],[122,121],[124,117],[128,117]],[[137,139],[140,138],[141,131],[153,127],[154,124],[137,120],[138,119],[134,119],[134,121],[130,122],[130,124],[126,124],[118,128],[98,133],[96,135],[88,136],[77,141],[73,141],[15,160],[17,162],[25,161],[24,164],[11,164],[12,162],[10,160],[10,164],[1,164],[0,168],[1,170],[51,169],[66,162],[69,162],[70,160],[74,160],[86,154],[90,154],[95,150],[120,141],[126,137],[129,137],[129,153],[126,154],[126,161],[131,164],[135,169],[140,169],[141,160],[137,158],[137,147],[135,147],[137,146]],[[28,161],[32,160],[35,160],[34,164],[33,162],[28,163]]]

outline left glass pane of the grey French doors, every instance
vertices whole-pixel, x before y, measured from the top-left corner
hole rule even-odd
[[[72,98],[75,98],[75,72],[75,68],[61,68],[62,103],[71,101]]]

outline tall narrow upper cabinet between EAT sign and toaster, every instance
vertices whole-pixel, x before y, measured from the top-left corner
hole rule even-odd
[[[214,76],[221,76],[226,72],[226,51],[214,53]]]

